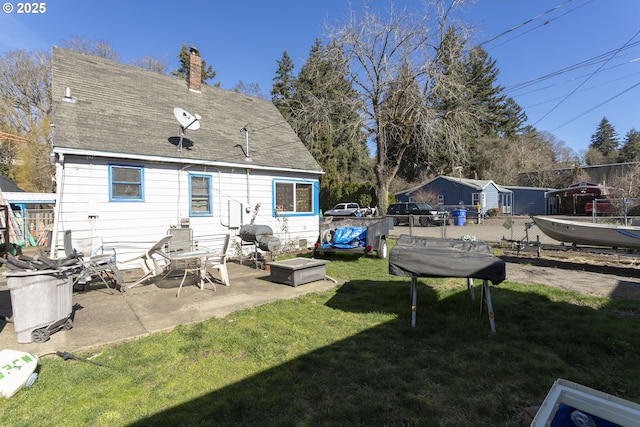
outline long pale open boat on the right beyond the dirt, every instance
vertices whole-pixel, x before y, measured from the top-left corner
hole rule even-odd
[[[533,222],[547,236],[574,245],[640,249],[640,227],[597,224],[548,216],[532,216]]]

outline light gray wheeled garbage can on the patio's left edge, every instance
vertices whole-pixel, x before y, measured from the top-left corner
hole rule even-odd
[[[51,333],[73,327],[73,279],[65,271],[9,271],[5,275],[19,343],[42,343]]]

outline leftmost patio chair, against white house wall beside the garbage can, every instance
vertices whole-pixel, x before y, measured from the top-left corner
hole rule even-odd
[[[75,256],[82,262],[80,273],[73,279],[73,286],[86,286],[86,283],[98,278],[113,293],[115,285],[120,291],[124,291],[124,278],[116,265],[116,251],[113,248],[105,248],[101,237],[90,239],[73,239],[71,230],[64,232],[65,256]]]

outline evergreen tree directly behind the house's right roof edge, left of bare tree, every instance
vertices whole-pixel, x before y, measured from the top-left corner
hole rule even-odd
[[[365,135],[359,127],[357,97],[345,78],[344,60],[335,52],[325,49],[319,39],[315,41],[293,81],[291,99],[287,100],[290,110],[283,113],[325,172],[320,179],[320,205],[324,208],[345,200],[371,202],[366,197],[370,164]],[[287,93],[280,92],[281,101]]]

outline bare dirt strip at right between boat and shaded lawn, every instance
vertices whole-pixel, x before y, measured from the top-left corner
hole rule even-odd
[[[531,250],[531,248],[529,248]],[[640,300],[640,256],[606,250],[541,247],[504,249],[507,280],[544,284],[585,295]]]

